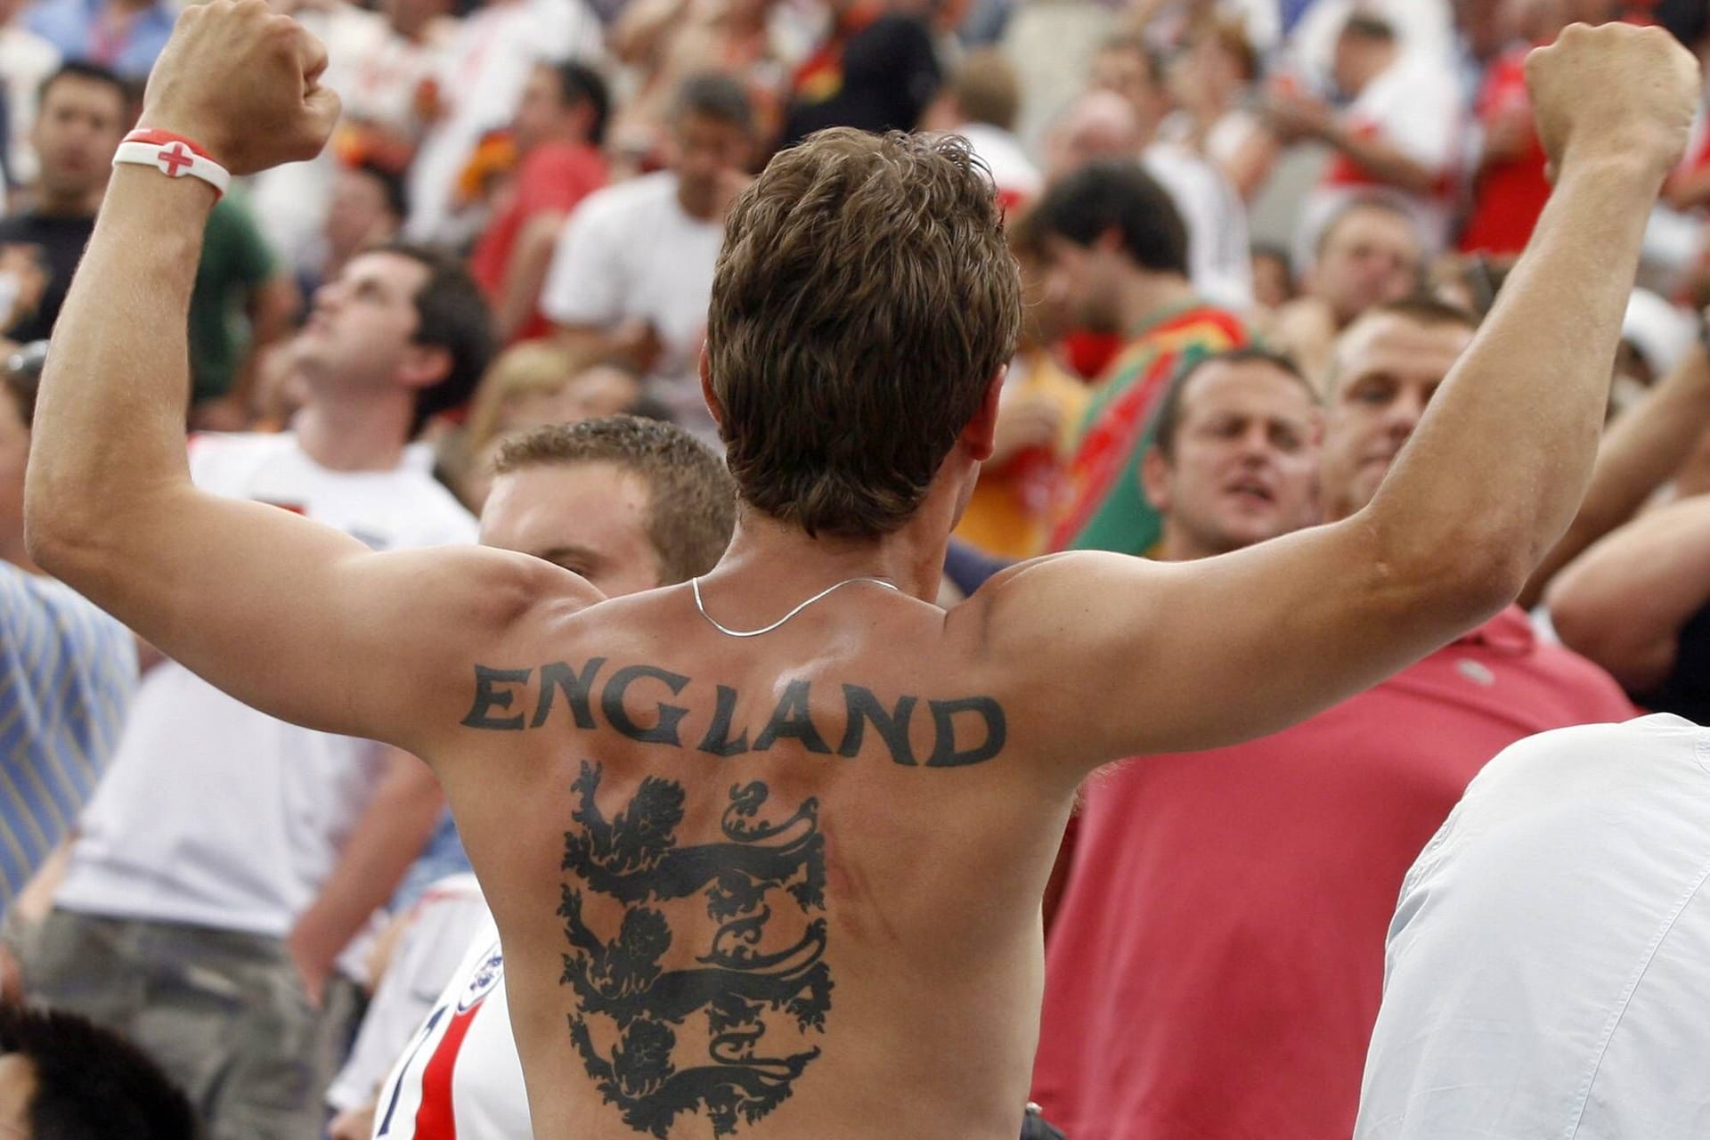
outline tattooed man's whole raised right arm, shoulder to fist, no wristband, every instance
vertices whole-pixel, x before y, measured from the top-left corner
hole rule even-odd
[[[1347,697],[1495,614],[1566,528],[1698,82],[1666,32],[1626,26],[1568,29],[1530,80],[1556,193],[1366,509],[1200,562],[1062,555],[976,595],[994,668],[1041,711],[1031,743],[1069,774],[1274,732]]]

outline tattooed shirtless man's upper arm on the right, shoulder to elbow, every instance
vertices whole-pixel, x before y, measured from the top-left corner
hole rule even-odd
[[[1195,562],[1064,555],[995,590],[994,636],[1079,769],[1279,732],[1488,615],[1395,579],[1358,520]]]

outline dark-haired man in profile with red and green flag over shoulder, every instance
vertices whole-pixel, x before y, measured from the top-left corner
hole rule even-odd
[[[1146,554],[1159,533],[1139,477],[1153,414],[1182,367],[1245,345],[1248,332],[1188,284],[1182,217],[1134,162],[1069,174],[1040,200],[1036,220],[1047,296],[1081,325],[1130,338],[1093,386],[1050,549]]]

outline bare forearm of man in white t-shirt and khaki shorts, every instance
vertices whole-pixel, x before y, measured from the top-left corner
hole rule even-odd
[[[374,798],[287,943],[316,1002],[339,954],[398,889],[443,808],[445,793],[433,771],[409,752],[386,749],[385,776]]]

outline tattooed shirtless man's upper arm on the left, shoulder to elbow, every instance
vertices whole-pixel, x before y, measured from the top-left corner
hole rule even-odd
[[[421,755],[457,723],[472,655],[581,583],[486,547],[376,554],[291,511],[192,487],[84,547],[65,555],[82,562],[84,593],[210,684]]]

